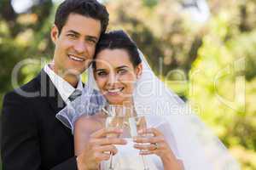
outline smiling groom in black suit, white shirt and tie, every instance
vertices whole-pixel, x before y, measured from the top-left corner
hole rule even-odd
[[[51,30],[53,64],[3,99],[3,170],[85,169],[84,157],[74,156],[71,130],[55,114],[79,96],[79,75],[107,26],[108,11],[96,0],[61,3]]]

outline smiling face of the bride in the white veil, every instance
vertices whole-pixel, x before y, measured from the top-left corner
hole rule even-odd
[[[103,49],[96,55],[96,83],[109,104],[130,103],[141,73],[142,65],[135,68],[125,49]]]

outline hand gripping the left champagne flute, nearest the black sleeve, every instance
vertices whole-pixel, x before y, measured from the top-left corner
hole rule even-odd
[[[118,128],[102,128],[92,133],[83,152],[77,157],[79,170],[98,169],[101,161],[110,158],[110,152],[115,155],[118,150],[113,144],[126,144],[125,139],[117,138],[120,133],[122,130]],[[106,138],[108,135],[116,137]]]

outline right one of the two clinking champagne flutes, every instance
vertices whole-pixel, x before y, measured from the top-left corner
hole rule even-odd
[[[136,136],[138,136],[138,132],[140,130],[147,128],[146,117],[145,116],[131,116],[129,118],[129,125],[130,125],[130,130],[131,130],[131,137],[136,137]],[[149,170],[145,158],[146,157],[142,155],[143,167],[144,167],[143,170]]]

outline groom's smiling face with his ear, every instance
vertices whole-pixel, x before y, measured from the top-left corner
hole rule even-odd
[[[100,20],[69,14],[61,33],[56,26],[51,31],[55,42],[54,70],[61,77],[83,73],[90,65],[100,34]]]

